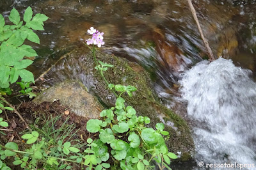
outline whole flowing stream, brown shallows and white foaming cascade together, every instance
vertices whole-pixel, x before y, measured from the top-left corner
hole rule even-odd
[[[103,31],[102,50],[143,66],[163,104],[188,121],[196,164],[256,169],[256,1],[194,3],[213,54],[223,56],[212,63],[186,0],[0,0],[0,12],[6,17],[13,7],[24,13],[31,6],[50,17],[36,32],[41,44],[31,43],[35,77],[58,61],[56,52],[90,38],[91,26]]]

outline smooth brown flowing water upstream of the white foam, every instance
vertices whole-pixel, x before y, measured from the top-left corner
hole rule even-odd
[[[93,26],[105,33],[102,50],[140,63],[164,104],[184,115],[177,104],[180,73],[207,59],[185,0],[0,0],[0,12],[7,16],[13,6],[24,12],[28,5],[51,18],[38,31],[41,45],[33,44],[35,76],[58,60],[58,50],[88,39]],[[195,8],[216,58],[230,58],[256,77],[256,2],[197,0]]]

